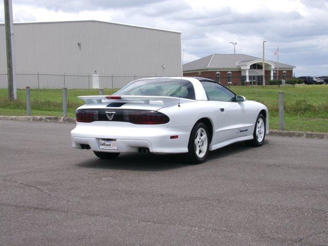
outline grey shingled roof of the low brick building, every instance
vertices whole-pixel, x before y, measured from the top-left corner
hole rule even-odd
[[[238,69],[238,65],[242,65],[243,62],[248,63],[251,60],[261,59],[259,57],[244,55],[244,54],[212,54],[203,58],[191,61],[190,63],[183,64],[182,70],[193,71],[203,69]],[[277,62],[271,61],[277,66]],[[292,69],[294,66],[279,63],[279,69]]]

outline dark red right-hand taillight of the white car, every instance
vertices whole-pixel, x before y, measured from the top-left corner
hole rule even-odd
[[[170,121],[165,114],[151,110],[123,110],[122,116],[123,121],[139,125],[166,124]]]

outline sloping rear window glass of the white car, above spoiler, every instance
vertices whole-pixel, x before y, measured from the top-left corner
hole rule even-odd
[[[195,90],[190,81],[172,78],[136,80],[114,95],[172,97],[179,97],[180,95],[181,98],[195,100]]]

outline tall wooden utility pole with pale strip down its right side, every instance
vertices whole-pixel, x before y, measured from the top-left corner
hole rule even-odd
[[[4,0],[4,7],[5,7],[6,52],[7,52],[8,97],[9,100],[16,100],[17,91],[16,91],[15,57],[14,57],[14,28],[13,28],[13,19],[12,19],[11,0]]]

